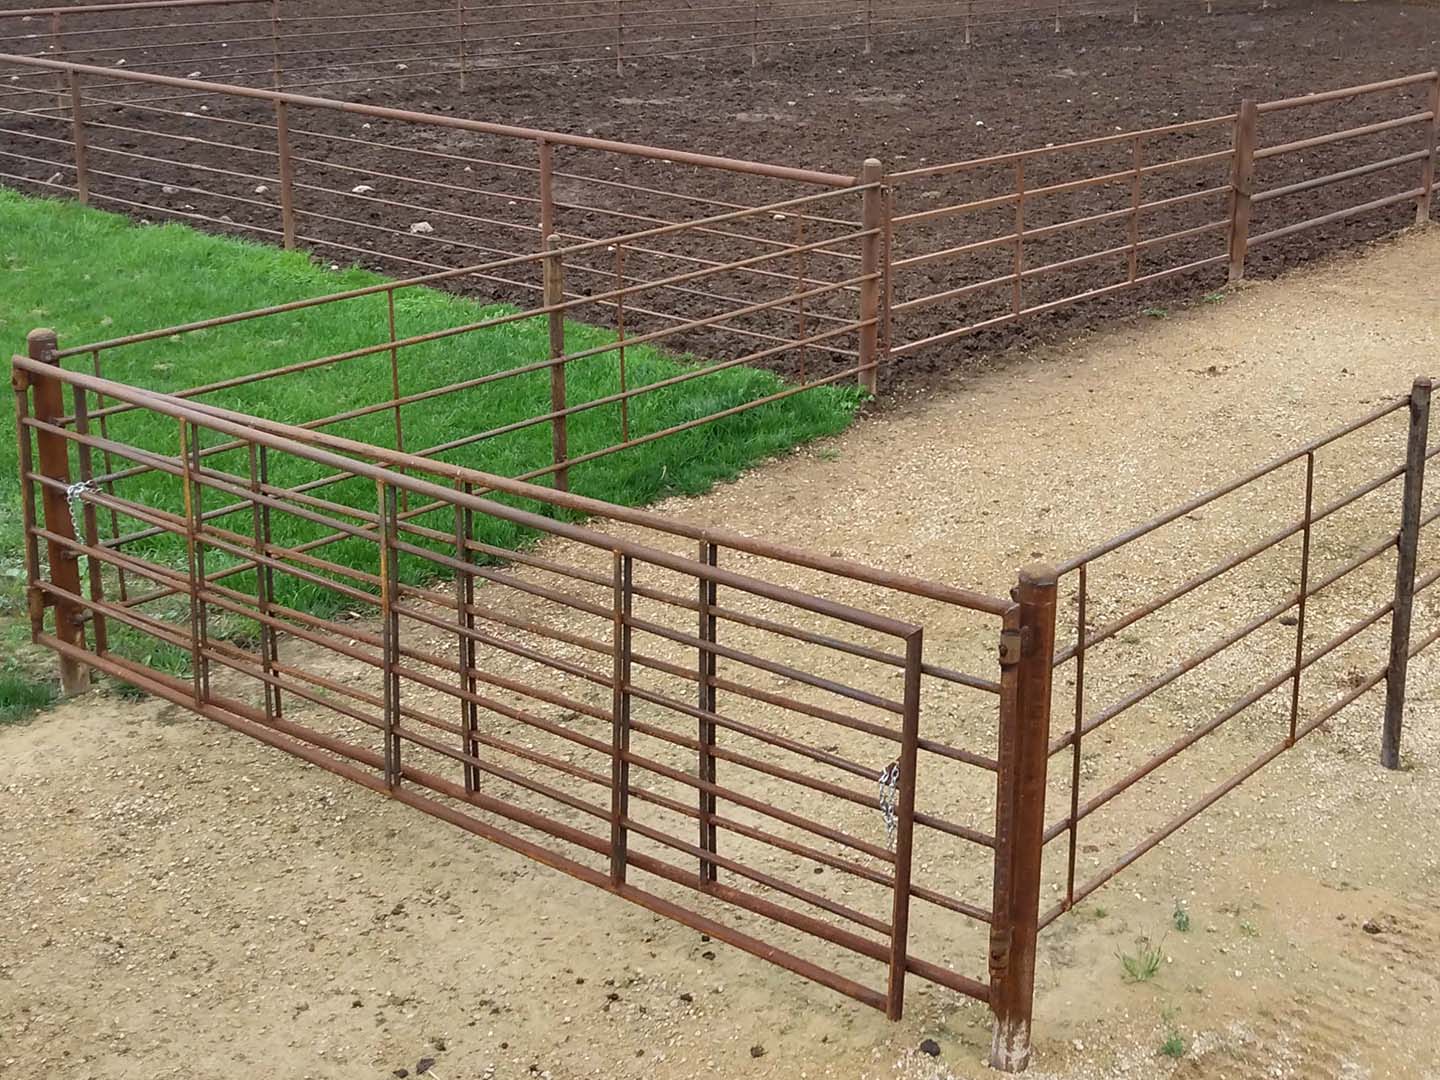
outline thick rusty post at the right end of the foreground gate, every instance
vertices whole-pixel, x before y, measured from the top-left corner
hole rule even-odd
[[[995,821],[995,901],[991,926],[991,1066],[1030,1064],[1035,996],[1040,865],[1050,757],[1050,690],[1056,651],[1056,572],[1020,573],[1015,606],[1001,634],[1001,729]]]

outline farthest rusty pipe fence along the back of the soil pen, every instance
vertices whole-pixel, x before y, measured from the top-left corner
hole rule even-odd
[[[1260,10],[1269,0],[1207,3]],[[0,52],[251,86],[356,86],[487,71],[613,65],[736,53],[752,65],[796,49],[883,52],[897,39],[965,45],[1030,26],[1198,12],[1198,0],[140,0],[0,12]],[[22,79],[37,79],[20,75]]]

